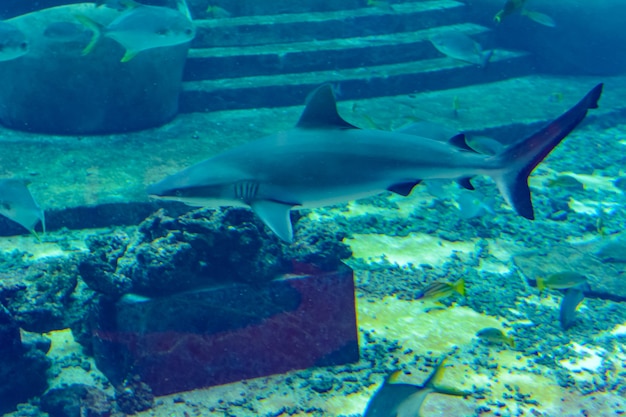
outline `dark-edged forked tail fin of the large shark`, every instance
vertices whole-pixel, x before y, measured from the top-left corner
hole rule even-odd
[[[515,211],[533,220],[528,176],[537,165],[585,118],[589,109],[598,107],[603,84],[598,84],[574,107],[543,129],[494,156],[502,167],[494,179],[504,199]]]

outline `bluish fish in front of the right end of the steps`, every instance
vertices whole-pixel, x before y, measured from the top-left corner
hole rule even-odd
[[[436,33],[428,40],[442,54],[480,67],[485,67],[493,54],[493,51],[484,52],[478,42],[462,32]]]

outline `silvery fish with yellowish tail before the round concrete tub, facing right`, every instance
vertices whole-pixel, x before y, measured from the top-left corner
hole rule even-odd
[[[122,45],[126,52],[121,62],[128,62],[139,52],[187,43],[195,36],[191,20],[178,10],[138,5],[122,13],[107,26],[77,15],[76,18],[94,33],[83,55],[90,53],[102,36]]]

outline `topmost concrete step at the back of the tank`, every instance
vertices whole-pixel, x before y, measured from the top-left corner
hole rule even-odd
[[[195,20],[192,48],[267,45],[410,32],[461,22],[464,4],[454,0],[394,4],[392,10],[365,7]]]

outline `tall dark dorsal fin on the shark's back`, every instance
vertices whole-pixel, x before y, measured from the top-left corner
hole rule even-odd
[[[356,129],[337,112],[335,93],[330,84],[315,89],[306,100],[306,107],[296,127],[304,129]]]

